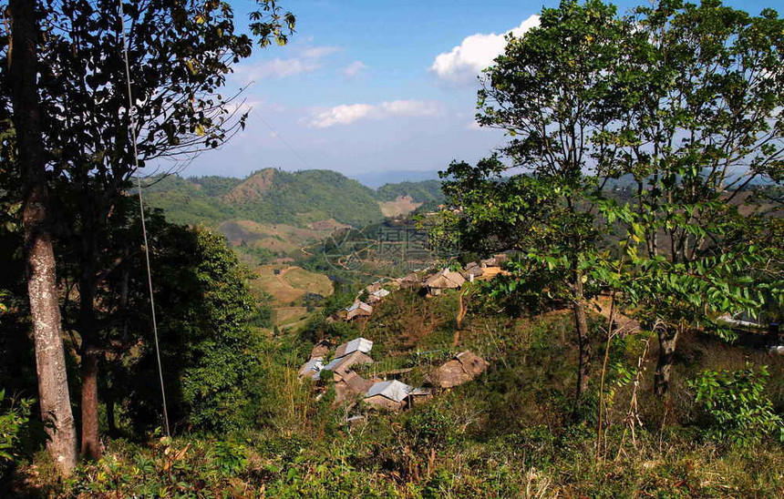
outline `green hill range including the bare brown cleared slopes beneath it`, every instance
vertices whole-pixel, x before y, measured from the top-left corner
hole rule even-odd
[[[331,170],[265,168],[247,178],[152,178],[144,197],[171,222],[218,229],[258,261],[298,255],[335,229],[438,205],[440,186],[423,180],[373,189]]]

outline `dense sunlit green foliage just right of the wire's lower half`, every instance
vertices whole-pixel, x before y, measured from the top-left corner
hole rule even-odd
[[[237,256],[225,239],[205,229],[155,227],[156,305],[170,416],[194,428],[225,431],[242,423],[256,335],[248,328],[253,299]],[[152,343],[131,367],[154,373]],[[151,382],[151,380],[150,380]],[[137,425],[154,424],[155,384],[128,393]],[[139,405],[139,402],[144,402]],[[146,414],[139,413],[146,412]]]

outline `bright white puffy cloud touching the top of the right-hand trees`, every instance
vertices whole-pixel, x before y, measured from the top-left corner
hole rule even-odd
[[[469,83],[476,80],[481,70],[492,65],[493,59],[499,56],[506,40],[504,36],[512,34],[521,36],[526,31],[539,25],[539,15],[531,15],[521,25],[501,34],[471,35],[463,39],[459,46],[436,57],[430,71],[439,79],[450,83]]]

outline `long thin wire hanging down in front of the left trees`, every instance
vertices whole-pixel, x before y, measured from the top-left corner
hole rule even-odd
[[[166,410],[166,391],[163,388],[163,367],[160,363],[160,348],[158,346],[158,321],[155,319],[155,299],[152,292],[152,270],[150,270],[150,246],[147,242],[147,225],[144,221],[144,200],[141,198],[141,174],[139,173],[139,149],[136,146],[136,106],[133,104],[133,94],[130,90],[130,64],[128,62],[128,38],[125,36],[125,13],[122,9],[122,0],[119,4],[119,25],[122,34],[122,52],[125,56],[125,77],[128,85],[128,105],[130,120],[130,137],[133,143],[133,161],[136,168],[136,180],[139,185],[139,214],[141,217],[141,233],[144,237],[144,258],[147,262],[147,283],[150,287],[150,311],[152,312],[152,333],[155,338],[155,356],[158,360],[158,376],[160,381],[160,398],[163,400],[163,431],[166,436],[171,436],[169,431],[169,412]]]

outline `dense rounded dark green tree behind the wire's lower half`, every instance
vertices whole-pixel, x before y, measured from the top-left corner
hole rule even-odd
[[[122,254],[123,239],[140,240],[139,219],[119,227],[108,252]],[[258,340],[250,324],[255,308],[249,277],[226,240],[207,229],[168,223],[149,213],[150,262],[170,422],[173,427],[223,431],[251,411],[250,371]],[[68,262],[64,266],[70,265]],[[107,321],[101,398],[109,429],[116,423],[143,433],[160,426],[160,387],[144,255],[129,251],[98,291]],[[77,311],[68,302],[65,311]],[[129,420],[117,421],[117,407]]]

